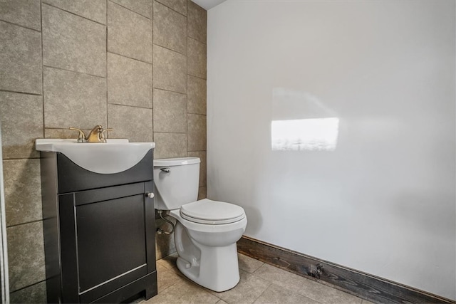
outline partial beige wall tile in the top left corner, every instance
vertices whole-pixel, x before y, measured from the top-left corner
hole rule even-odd
[[[2,0],[0,20],[41,31],[40,0]]]

